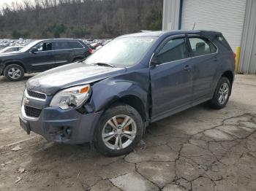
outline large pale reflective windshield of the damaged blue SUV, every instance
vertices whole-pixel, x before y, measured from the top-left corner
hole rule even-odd
[[[114,39],[84,61],[88,64],[109,63],[116,67],[133,66],[155,42],[154,37],[124,37]]]

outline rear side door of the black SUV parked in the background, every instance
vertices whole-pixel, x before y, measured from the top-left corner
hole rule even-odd
[[[68,41],[53,42],[53,54],[56,66],[62,66],[72,62],[73,52]]]

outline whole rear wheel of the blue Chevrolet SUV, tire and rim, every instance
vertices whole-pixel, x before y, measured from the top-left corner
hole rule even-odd
[[[230,98],[230,93],[231,93],[230,80],[227,79],[227,77],[221,77],[214,91],[214,96],[209,101],[210,106],[213,109],[224,108],[227,104],[228,99]]]

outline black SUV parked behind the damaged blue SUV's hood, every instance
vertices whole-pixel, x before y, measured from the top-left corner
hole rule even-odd
[[[0,55],[0,75],[18,81],[24,73],[46,71],[91,55],[91,49],[81,40],[37,40],[18,52]]]

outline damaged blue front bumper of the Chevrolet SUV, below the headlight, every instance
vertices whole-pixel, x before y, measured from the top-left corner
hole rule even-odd
[[[26,123],[26,131],[45,137],[48,141],[65,144],[83,144],[93,140],[94,129],[102,112],[81,114],[75,109],[62,110],[59,107],[42,109],[38,118],[26,117],[24,106],[20,120]],[[24,128],[24,125],[22,125]]]

